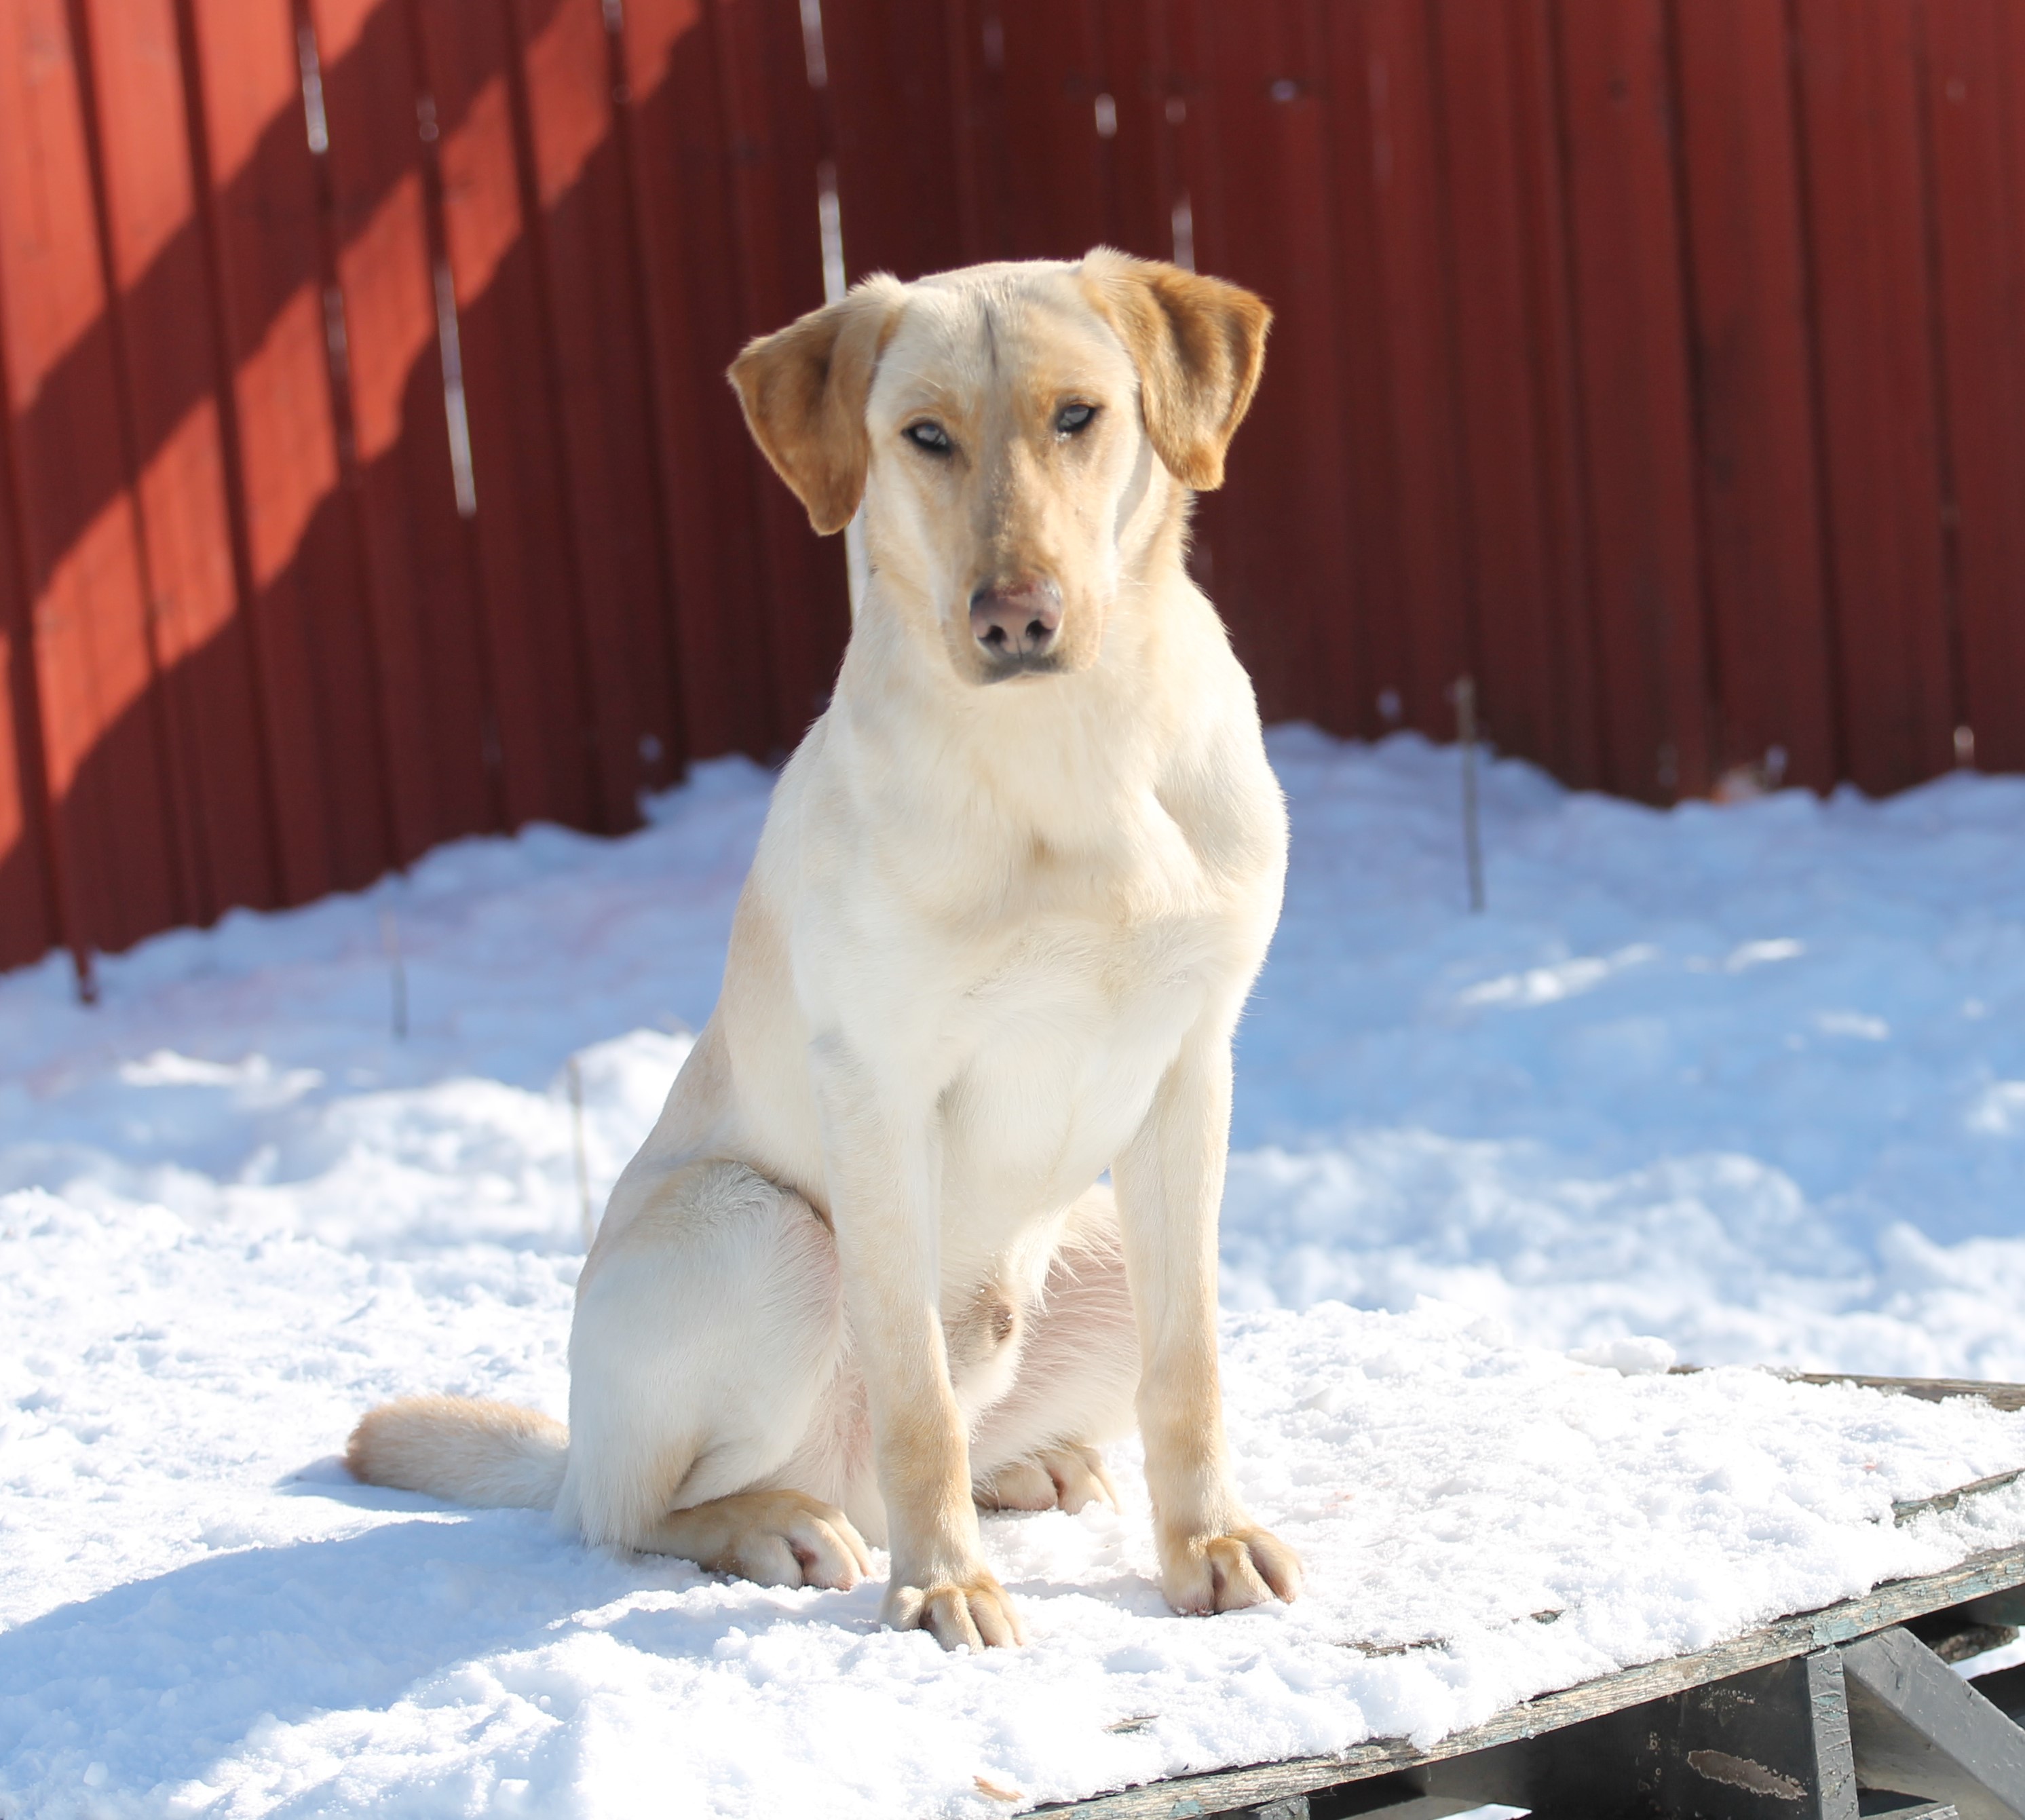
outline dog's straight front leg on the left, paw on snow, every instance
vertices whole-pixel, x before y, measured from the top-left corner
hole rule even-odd
[[[834,1041],[814,1051],[844,1306],[865,1373],[893,1573],[881,1618],[946,1650],[1019,1644],[984,1565],[970,1441],[940,1312],[942,1154],[934,1105],[897,1107]]]

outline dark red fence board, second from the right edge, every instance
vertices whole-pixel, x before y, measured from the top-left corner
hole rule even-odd
[[[1847,775],[1952,763],[1914,0],[1796,0]]]

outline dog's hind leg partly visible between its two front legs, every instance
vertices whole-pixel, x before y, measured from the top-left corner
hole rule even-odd
[[[1098,1447],[1132,1433],[1140,1350],[1112,1192],[1069,1213],[1041,1298],[1025,1310],[1012,1387],[970,1439],[972,1494],[990,1510],[1118,1502]]]

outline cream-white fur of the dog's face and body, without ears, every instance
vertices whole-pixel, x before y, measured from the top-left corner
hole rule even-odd
[[[1077,267],[881,298],[873,575],[776,788],[717,1012],[585,1265],[557,1514],[735,1567],[751,1551],[705,1528],[765,1528],[737,1498],[792,1492],[824,1535],[889,1541],[889,1620],[1012,1640],[974,1486],[1087,1494],[1077,1462],[1136,1395],[1170,1597],[1247,1603],[1260,1575],[1290,1595],[1298,1565],[1229,1486],[1215,1381],[1229,1041],[1286,856],[1251,688]],[[1047,362],[1106,401],[1071,478],[1006,429],[1008,387]],[[978,464],[1004,443],[1002,472],[923,468],[901,431],[929,407]],[[1006,500],[1041,549],[1021,561],[1063,573],[1102,636],[1083,668],[978,686],[950,650]],[[391,1411],[369,1417],[358,1470],[399,1452],[403,1484],[547,1502],[553,1462],[466,1409],[437,1405],[433,1468],[413,1421],[389,1450]],[[520,1464],[482,1464],[488,1445]],[[796,1559],[850,1573],[822,1543]]]

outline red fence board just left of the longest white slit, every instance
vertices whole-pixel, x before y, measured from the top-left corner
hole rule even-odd
[[[304,0],[344,308],[344,484],[364,549],[395,854],[492,822],[486,666],[443,419],[419,83],[399,0]]]

